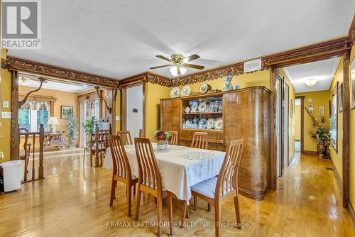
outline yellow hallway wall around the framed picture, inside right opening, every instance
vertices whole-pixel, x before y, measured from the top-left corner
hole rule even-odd
[[[337,82],[340,84],[343,82],[343,59],[340,60],[337,71],[332,79],[332,84],[330,85],[329,99],[332,100],[332,92],[337,87]],[[338,152],[330,145],[330,156],[334,162],[335,168],[337,169],[340,179],[343,180],[343,113],[339,113],[339,107],[337,109],[338,113]]]

